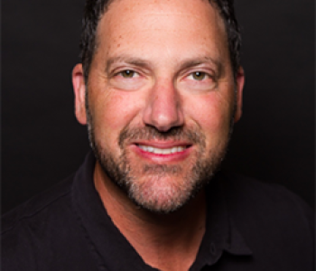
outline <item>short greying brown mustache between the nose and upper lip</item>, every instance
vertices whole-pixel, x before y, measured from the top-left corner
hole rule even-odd
[[[125,141],[133,140],[185,140],[192,144],[205,145],[205,135],[198,128],[172,127],[166,132],[159,131],[153,126],[134,127],[126,126],[118,136],[118,144],[123,148]]]

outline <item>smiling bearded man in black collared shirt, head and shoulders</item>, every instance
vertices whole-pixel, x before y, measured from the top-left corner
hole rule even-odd
[[[94,155],[2,218],[0,269],[316,270],[300,199],[217,173],[239,47],[231,1],[88,0],[72,78]]]

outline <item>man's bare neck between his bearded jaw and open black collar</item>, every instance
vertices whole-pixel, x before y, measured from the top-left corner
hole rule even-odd
[[[146,264],[168,271],[190,268],[205,232],[204,192],[181,210],[157,214],[135,206],[98,163],[94,180],[108,215]]]

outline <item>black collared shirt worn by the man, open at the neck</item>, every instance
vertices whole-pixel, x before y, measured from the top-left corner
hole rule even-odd
[[[155,270],[107,215],[95,159],[0,219],[0,270]],[[218,173],[207,188],[206,233],[191,271],[316,270],[316,219],[298,197]]]

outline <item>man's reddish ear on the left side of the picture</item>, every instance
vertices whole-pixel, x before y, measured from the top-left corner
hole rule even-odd
[[[86,125],[86,84],[82,64],[77,64],[72,70],[72,86],[75,94],[75,115],[80,124]]]

